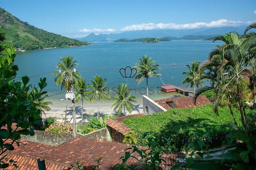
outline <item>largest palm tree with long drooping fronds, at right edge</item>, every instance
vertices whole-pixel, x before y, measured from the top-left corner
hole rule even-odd
[[[241,38],[237,33],[230,32],[229,34],[216,37],[214,41],[216,40],[221,40],[225,44],[218,46],[217,50],[214,50],[215,52],[211,52],[208,60],[201,66],[203,68],[202,70],[206,68],[205,65],[214,65],[216,67],[214,74],[218,78],[215,80],[219,80],[219,82],[214,87],[216,90],[216,99],[213,110],[215,113],[218,113],[217,108],[221,95],[227,92],[227,89],[232,84],[235,84],[237,87],[235,101],[239,107],[242,125],[245,132],[247,132],[244,98],[238,97],[243,96],[244,91],[238,87],[246,86],[244,81],[240,79],[240,74],[252,60],[255,60],[255,57],[252,57],[255,55],[255,50],[253,51],[251,48],[255,46],[256,38]],[[195,98],[205,90],[207,89],[199,89]]]

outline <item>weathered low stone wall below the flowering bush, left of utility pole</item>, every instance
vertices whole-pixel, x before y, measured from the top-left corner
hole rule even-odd
[[[49,145],[56,145],[65,143],[74,138],[73,134],[66,134],[66,133],[58,133],[49,132],[49,131],[40,131],[34,130],[35,135],[21,135],[22,140],[44,143]]]

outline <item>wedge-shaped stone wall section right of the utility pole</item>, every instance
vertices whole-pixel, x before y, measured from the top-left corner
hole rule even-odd
[[[85,138],[91,138],[91,139],[96,139],[96,140],[111,141],[110,133],[107,128],[95,130],[90,133],[84,134],[82,136]]]

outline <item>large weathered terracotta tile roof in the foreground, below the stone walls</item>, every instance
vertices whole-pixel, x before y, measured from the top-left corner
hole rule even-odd
[[[96,165],[94,161],[100,157],[103,157],[100,165],[100,169],[108,170],[121,163],[119,158],[125,155],[127,148],[131,145],[108,142],[103,140],[95,140],[83,137],[76,137],[66,143],[58,146],[52,146],[47,144],[41,144],[36,142],[22,141],[27,145],[20,145],[15,148],[14,151],[8,151],[8,158],[18,161],[17,165],[20,169],[38,169],[36,160],[45,159],[47,169],[63,169],[70,167],[70,164],[75,164],[78,160],[80,163],[84,163],[85,166]],[[140,147],[145,149],[145,147]],[[138,157],[138,153],[132,154]],[[167,157],[163,156],[166,160],[166,166],[176,164],[175,159],[182,157],[184,154],[174,152]],[[136,166],[138,161],[135,158],[130,157],[127,161],[128,166]],[[164,165],[163,165],[164,166]]]

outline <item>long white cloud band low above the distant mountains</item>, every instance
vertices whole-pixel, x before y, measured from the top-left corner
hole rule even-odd
[[[121,29],[121,31],[135,31],[135,30],[155,30],[155,29],[196,29],[202,27],[224,27],[224,26],[238,26],[243,24],[240,21],[229,21],[226,19],[220,19],[217,21],[211,21],[209,23],[205,22],[197,22],[197,23],[189,23],[189,24],[175,24],[175,23],[143,23],[138,25],[126,26]]]

